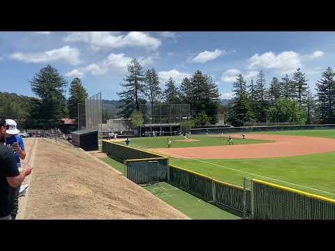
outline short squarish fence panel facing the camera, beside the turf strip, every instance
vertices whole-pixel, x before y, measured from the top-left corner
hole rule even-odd
[[[126,177],[137,184],[168,180],[168,158],[126,160]]]

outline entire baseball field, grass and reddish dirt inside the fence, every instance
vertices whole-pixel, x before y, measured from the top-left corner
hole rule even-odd
[[[315,195],[335,198],[335,130],[295,130],[233,134],[146,137],[133,146],[170,156],[170,164],[219,181],[241,185],[243,178],[260,178]]]

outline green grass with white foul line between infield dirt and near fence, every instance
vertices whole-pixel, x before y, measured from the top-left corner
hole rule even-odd
[[[243,178],[259,178],[335,199],[335,153],[239,160],[170,158],[170,164],[235,185],[242,185]]]

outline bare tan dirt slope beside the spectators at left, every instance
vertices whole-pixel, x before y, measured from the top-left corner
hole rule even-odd
[[[188,219],[91,155],[43,139],[26,199],[24,219]]]

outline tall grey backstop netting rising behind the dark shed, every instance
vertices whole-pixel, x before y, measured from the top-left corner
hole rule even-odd
[[[101,92],[78,104],[78,130],[97,130],[99,146],[103,136],[102,121]]]

